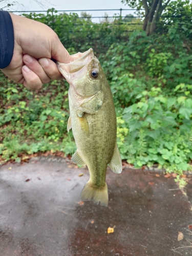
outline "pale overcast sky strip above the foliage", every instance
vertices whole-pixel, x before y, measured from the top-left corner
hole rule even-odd
[[[18,4],[15,4],[11,11],[40,11],[54,8],[56,10],[98,10],[98,9],[130,9],[130,7],[125,6],[121,3],[121,0],[14,0]],[[6,5],[6,2],[11,3],[11,0],[5,0],[5,2],[0,2],[0,8]],[[40,5],[37,3],[41,3]],[[87,11],[92,14],[92,16],[103,16],[104,13],[108,13],[109,16],[113,16],[115,13],[119,14],[120,11]],[[80,16],[80,12],[76,12]],[[122,16],[132,13],[133,11],[122,11]],[[16,13],[15,13],[16,14]],[[98,20],[98,19],[97,19]],[[96,19],[92,19],[96,21]]]

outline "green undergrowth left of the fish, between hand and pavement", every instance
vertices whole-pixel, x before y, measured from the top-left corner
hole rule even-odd
[[[39,151],[74,152],[73,136],[67,135],[66,81],[52,81],[35,93],[1,73],[0,85],[0,155],[4,159]]]

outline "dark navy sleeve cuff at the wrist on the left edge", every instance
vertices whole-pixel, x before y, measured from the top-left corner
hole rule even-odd
[[[0,69],[6,68],[13,57],[14,33],[9,12],[0,11]]]

